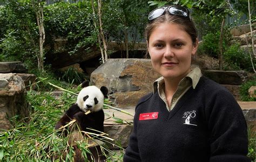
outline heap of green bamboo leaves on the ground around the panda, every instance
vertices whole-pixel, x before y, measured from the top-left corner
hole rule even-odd
[[[52,82],[48,78],[43,78],[36,84],[49,81]],[[54,125],[64,110],[76,102],[76,96],[72,93],[77,93],[77,91],[72,89],[69,89],[72,93],[66,91],[56,99],[53,97],[52,91],[37,92],[32,90],[31,85],[31,90],[27,92],[26,96],[30,105],[29,117],[22,120],[19,120],[18,117],[11,118],[14,128],[0,132],[1,161],[51,161],[52,158],[58,158],[62,151],[68,152],[66,159],[63,160],[72,161],[73,147],[67,145],[70,137],[59,136],[57,130],[54,129]],[[97,138],[98,135],[90,134],[90,136]],[[105,143],[110,143],[109,139],[108,137],[103,138]],[[86,141],[78,141],[76,145],[84,156],[90,153]],[[101,149],[106,153],[107,161],[120,161],[124,150],[122,147],[119,148],[121,154],[107,149],[106,146],[102,146]]]

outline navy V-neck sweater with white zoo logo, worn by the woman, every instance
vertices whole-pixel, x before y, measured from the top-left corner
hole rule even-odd
[[[139,117],[143,113],[158,117]],[[225,87],[201,77],[172,111],[158,93],[136,106],[133,132],[124,161],[250,161],[247,125],[242,111]]]

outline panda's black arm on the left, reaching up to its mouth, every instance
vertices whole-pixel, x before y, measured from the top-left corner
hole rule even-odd
[[[78,113],[78,112],[82,112],[77,104],[73,104],[71,107],[69,107],[69,109],[65,112],[64,116],[62,118],[59,119],[59,121],[57,122],[55,129],[59,129],[61,126],[68,124],[72,119],[73,116]]]

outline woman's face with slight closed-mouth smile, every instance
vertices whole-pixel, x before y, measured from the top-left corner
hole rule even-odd
[[[173,23],[160,23],[147,42],[153,69],[170,79],[182,79],[190,72],[197,46],[183,26]]]

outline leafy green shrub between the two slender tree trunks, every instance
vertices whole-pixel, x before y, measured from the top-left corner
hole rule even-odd
[[[45,31],[49,33],[46,44],[49,52],[60,52],[54,48],[55,39],[65,39],[62,50],[70,55],[83,46],[96,44],[97,35],[92,24],[90,1],[78,3],[57,2],[45,8]]]

